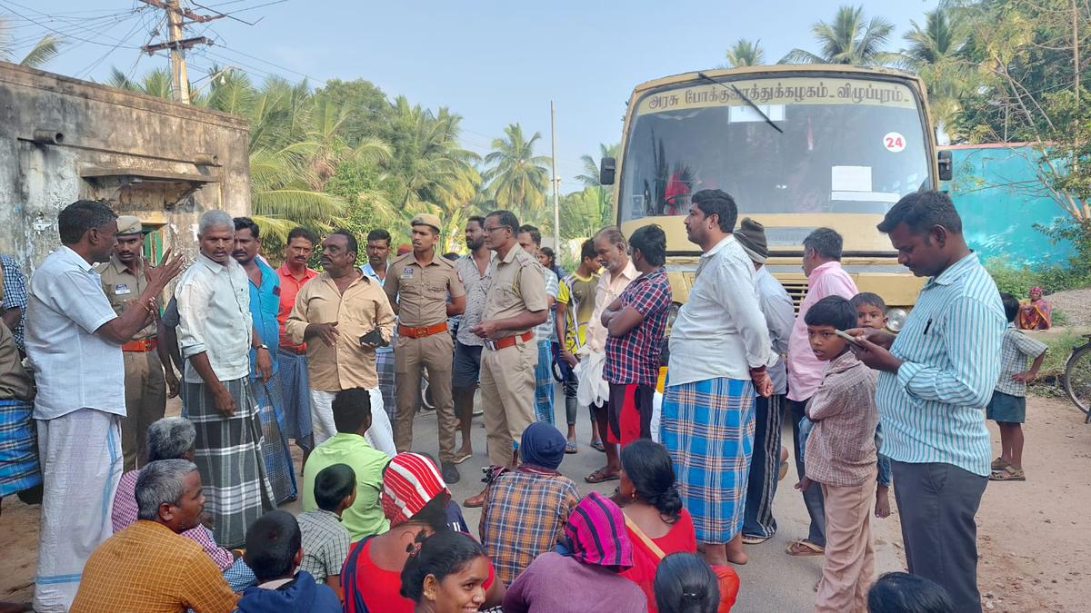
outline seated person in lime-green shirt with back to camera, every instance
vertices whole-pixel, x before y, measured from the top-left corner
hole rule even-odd
[[[356,472],[356,501],[341,513],[341,525],[352,542],[385,532],[389,524],[383,516],[379,494],[383,490],[383,468],[391,458],[368,444],[364,433],[371,428],[371,394],[362,387],[341,389],[333,400],[337,434],[311,452],[303,466],[303,510],[319,508],[314,500],[314,479],[327,466],[346,464]]]

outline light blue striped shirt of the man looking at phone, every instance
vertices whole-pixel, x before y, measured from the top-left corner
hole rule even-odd
[[[983,408],[1000,374],[1006,327],[996,284],[976,254],[924,284],[890,348],[903,363],[897,374],[879,373],[875,390],[884,455],[988,476]]]

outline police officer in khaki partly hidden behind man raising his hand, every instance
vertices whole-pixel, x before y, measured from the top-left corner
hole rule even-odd
[[[129,302],[147,287],[144,274],[144,233],[140,219],[132,215],[118,217],[118,244],[110,261],[103,264],[99,275],[103,291],[113,311],[120,315]],[[125,364],[125,418],[121,420],[121,452],[124,469],[133,470],[147,459],[147,426],[161,419],[167,408],[167,385],[170,397],[178,395],[178,377],[169,366],[166,345],[157,342],[160,322],[155,321],[121,346]],[[164,364],[168,364],[164,375]]]

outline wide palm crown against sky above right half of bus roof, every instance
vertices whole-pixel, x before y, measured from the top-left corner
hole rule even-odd
[[[818,22],[811,27],[819,46],[817,53],[792,49],[780,63],[885,65],[898,60],[883,50],[892,32],[894,24],[883,17],[866,21],[863,7],[843,5],[831,23]]]

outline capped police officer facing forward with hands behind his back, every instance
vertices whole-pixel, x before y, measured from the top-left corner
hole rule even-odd
[[[412,251],[391,262],[383,290],[398,315],[394,346],[394,387],[397,397],[394,442],[398,452],[412,446],[412,419],[420,395],[421,369],[428,369],[428,384],[440,420],[440,465],[443,479],[457,483],[455,467],[455,404],[451,395],[454,340],[447,317],[466,309],[466,290],[455,266],[435,249],[440,218],[422,213],[409,221]],[[449,301],[448,301],[449,297]]]

